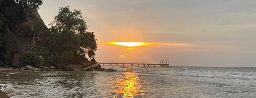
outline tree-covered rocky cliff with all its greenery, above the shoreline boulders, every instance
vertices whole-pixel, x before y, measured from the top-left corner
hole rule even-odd
[[[93,59],[97,39],[87,31],[81,10],[61,7],[44,29],[36,12],[42,4],[42,0],[0,0],[0,65],[55,66],[78,62],[78,58]],[[14,64],[21,58],[22,63]]]

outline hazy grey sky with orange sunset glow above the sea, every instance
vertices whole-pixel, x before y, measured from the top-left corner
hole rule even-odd
[[[256,67],[255,0],[43,0],[48,26],[59,7],[81,10],[96,61]],[[147,42],[120,46],[109,42]]]

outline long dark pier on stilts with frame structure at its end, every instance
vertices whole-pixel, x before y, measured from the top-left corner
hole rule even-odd
[[[133,65],[138,65],[138,67],[140,67],[140,65],[143,65],[143,67],[145,67],[145,65],[147,65],[149,67],[149,65],[154,65],[154,67],[156,67],[156,65],[160,65],[160,67],[169,67],[169,61],[160,61],[160,63],[101,63],[103,66],[104,64],[106,65],[131,65],[131,67],[133,67]]]

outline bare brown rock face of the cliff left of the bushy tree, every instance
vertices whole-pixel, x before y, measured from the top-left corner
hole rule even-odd
[[[20,67],[23,56],[30,50],[33,37],[40,37],[47,26],[44,24],[37,11],[26,11],[21,18],[15,19],[17,16],[10,15],[10,22],[5,32],[6,51],[11,55],[11,63],[13,67]]]

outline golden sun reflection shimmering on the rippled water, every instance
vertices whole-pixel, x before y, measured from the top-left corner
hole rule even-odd
[[[131,98],[138,95],[141,87],[139,78],[133,71],[125,73],[122,79],[114,81],[116,83],[117,90],[114,90],[116,94],[122,95],[124,98]],[[142,95],[142,94],[140,94]],[[113,98],[117,98],[114,96]]]

